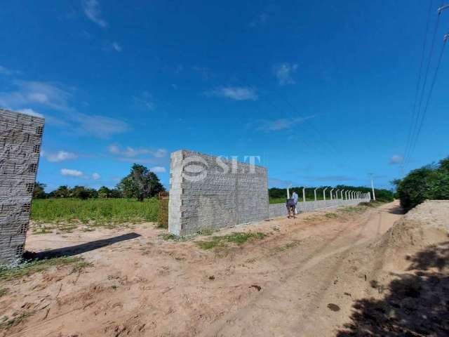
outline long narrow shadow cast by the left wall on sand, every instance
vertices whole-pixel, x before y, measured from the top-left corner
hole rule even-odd
[[[110,237],[108,239],[95,240],[92,242],[86,242],[85,244],[77,244],[76,246],[63,247],[58,249],[52,249],[51,251],[40,251],[39,253],[26,252],[25,259],[43,259],[43,258],[58,258],[60,256],[75,256],[87,251],[93,251],[111,244],[123,242],[140,237],[137,233],[128,233],[119,235],[118,237]]]

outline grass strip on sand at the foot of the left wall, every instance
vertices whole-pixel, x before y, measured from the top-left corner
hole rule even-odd
[[[32,275],[36,272],[43,272],[50,267],[58,267],[60,265],[73,265],[72,272],[81,272],[86,267],[91,266],[82,258],[79,257],[61,257],[48,258],[45,260],[34,260],[21,263],[16,267],[0,266],[0,281],[11,281],[13,279],[20,279],[25,276]]]

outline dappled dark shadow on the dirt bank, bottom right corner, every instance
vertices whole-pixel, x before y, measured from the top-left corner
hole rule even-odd
[[[449,242],[408,258],[408,273],[395,275],[383,300],[353,305],[342,336],[449,336]]]

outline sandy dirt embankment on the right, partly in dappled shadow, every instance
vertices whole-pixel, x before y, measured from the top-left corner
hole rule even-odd
[[[425,201],[358,251],[372,290],[337,336],[449,336],[448,229],[449,201]]]

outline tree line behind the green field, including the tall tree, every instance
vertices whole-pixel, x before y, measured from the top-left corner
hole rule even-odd
[[[49,193],[45,192],[45,184],[35,183],[33,197],[35,199],[50,198],[135,198],[143,201],[145,198],[155,197],[159,192],[165,191],[156,173],[149,171],[145,166],[133,164],[128,176],[120,180],[114,188],[106,186],[98,190],[84,186],[68,187],[62,185]]]

